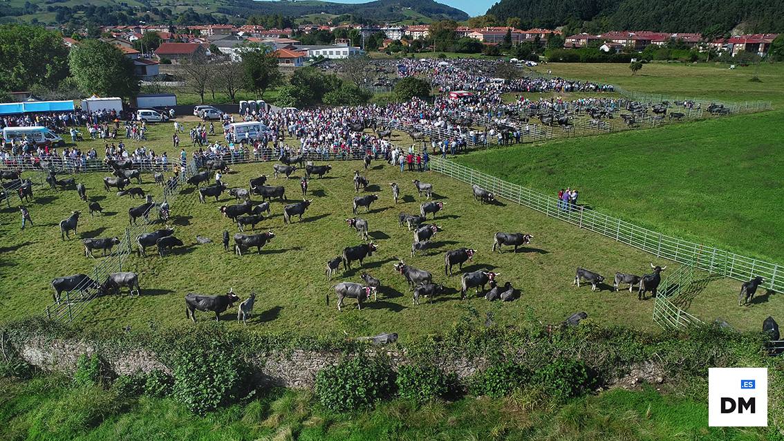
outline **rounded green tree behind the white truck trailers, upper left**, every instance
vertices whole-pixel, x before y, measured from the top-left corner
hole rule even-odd
[[[82,92],[129,98],[139,92],[133,62],[116,46],[100,40],[85,40],[71,48],[71,74]]]

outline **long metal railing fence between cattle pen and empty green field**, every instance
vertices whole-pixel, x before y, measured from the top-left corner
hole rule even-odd
[[[784,273],[782,273],[784,267],[778,264],[667,236],[594,210],[564,204],[557,197],[550,197],[524,186],[506,182],[503,179],[478,172],[441,157],[431,157],[430,169],[464,183],[481,186],[485,190],[495,193],[498,197],[532,208],[550,217],[579,226],[579,228],[600,233],[622,244],[655,255],[657,258],[666,258],[691,267],[691,275],[695,269],[701,269],[708,273],[742,281],[760,276],[764,278],[764,284],[761,286],[773,291],[784,291]],[[684,289],[688,283],[690,284],[691,275],[688,276],[688,280],[679,279],[678,277],[685,277],[681,273],[665,277],[662,291],[667,295],[662,295],[656,300],[659,302],[654,310],[656,323],[675,323],[677,326],[681,326],[697,320],[667,299],[672,295],[677,295],[679,290]],[[688,283],[686,283],[687,281]],[[668,292],[668,290],[672,292]]]

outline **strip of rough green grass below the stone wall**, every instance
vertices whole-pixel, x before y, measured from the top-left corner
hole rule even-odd
[[[766,428],[707,428],[707,409],[677,393],[612,390],[561,406],[529,396],[416,405],[403,399],[336,414],[308,392],[260,391],[205,418],[172,399],[74,388],[64,378],[0,380],[0,437],[17,439],[701,439],[761,441]],[[259,394],[256,394],[259,396]]]

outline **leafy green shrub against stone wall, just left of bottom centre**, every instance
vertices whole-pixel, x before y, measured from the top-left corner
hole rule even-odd
[[[328,409],[357,410],[372,407],[389,396],[393,387],[390,364],[378,357],[361,355],[318,371],[314,392]]]

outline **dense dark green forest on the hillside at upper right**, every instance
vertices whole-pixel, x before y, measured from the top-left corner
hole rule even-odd
[[[523,27],[568,24],[588,32],[726,32],[739,25],[746,32],[784,31],[782,0],[501,0],[488,14],[517,17]]]

